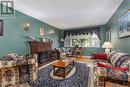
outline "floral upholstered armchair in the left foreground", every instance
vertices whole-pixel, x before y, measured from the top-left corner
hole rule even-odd
[[[0,87],[17,87],[19,83],[35,80],[35,64],[33,55],[7,54],[0,59]]]

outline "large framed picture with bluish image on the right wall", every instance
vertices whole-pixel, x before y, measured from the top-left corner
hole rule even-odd
[[[130,9],[119,19],[119,38],[130,36]]]

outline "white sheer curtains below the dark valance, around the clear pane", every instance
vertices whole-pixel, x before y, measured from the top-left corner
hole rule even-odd
[[[74,47],[72,45],[72,40],[73,39],[86,39],[85,44],[83,45],[84,47],[100,47],[100,39],[98,35],[93,32],[91,33],[86,33],[86,34],[67,34],[65,37],[64,41],[64,46],[65,47]],[[82,44],[80,44],[82,46]]]

